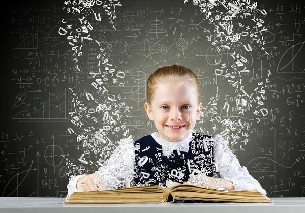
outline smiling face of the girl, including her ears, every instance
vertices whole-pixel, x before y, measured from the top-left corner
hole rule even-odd
[[[194,83],[167,77],[158,83],[151,105],[146,102],[144,106],[149,119],[155,121],[159,136],[168,141],[178,141],[194,128],[202,103],[198,103]]]

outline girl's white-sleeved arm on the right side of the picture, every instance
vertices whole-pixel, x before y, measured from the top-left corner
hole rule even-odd
[[[239,164],[238,159],[229,149],[228,141],[221,135],[214,137],[214,160],[219,170],[220,177],[233,182],[235,190],[257,190],[263,195],[266,191],[259,182],[254,179],[246,167]]]

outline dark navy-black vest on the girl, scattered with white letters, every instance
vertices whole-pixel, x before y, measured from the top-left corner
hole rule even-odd
[[[189,151],[180,151],[179,155],[174,150],[170,156],[163,155],[162,146],[151,135],[135,141],[136,186],[154,184],[166,187],[166,180],[183,183],[191,178],[190,174],[196,175],[198,171],[206,176],[216,177],[213,142],[205,141],[205,151],[204,138],[211,136],[193,133]]]

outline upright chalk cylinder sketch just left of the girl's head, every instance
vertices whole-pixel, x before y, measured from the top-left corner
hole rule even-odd
[[[135,71],[131,74],[130,88],[131,99],[135,102],[141,102],[146,99],[146,74],[142,71]],[[135,85],[133,85],[135,84]]]

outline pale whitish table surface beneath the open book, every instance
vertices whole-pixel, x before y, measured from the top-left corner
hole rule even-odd
[[[217,212],[305,212],[305,198],[271,198],[272,203],[158,203],[158,204],[64,204],[64,198],[0,197],[0,212],[44,212],[44,213],[170,213],[190,211]]]

